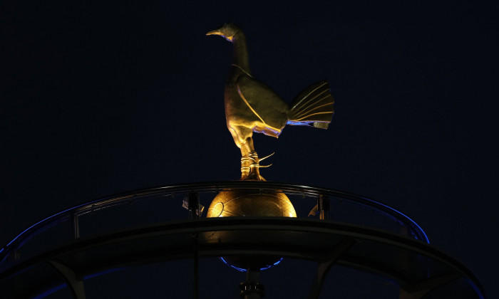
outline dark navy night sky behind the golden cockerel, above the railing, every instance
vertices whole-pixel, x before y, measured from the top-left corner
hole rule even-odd
[[[232,45],[205,36],[232,21],[282,98],[326,78],[336,100],[327,131],[254,137],[264,177],[396,207],[498,293],[497,4],[46,2],[0,8],[2,245],[91,199],[238,179]]]

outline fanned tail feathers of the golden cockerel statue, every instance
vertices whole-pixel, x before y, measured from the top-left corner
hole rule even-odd
[[[305,88],[291,103],[289,125],[311,125],[327,128],[334,114],[334,99],[327,80]]]

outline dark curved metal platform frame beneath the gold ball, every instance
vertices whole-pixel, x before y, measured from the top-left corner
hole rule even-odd
[[[190,195],[191,196],[186,196],[185,205],[188,205],[189,201],[187,199],[190,198],[192,199],[191,203],[194,203],[191,204],[191,206],[195,208],[195,206],[197,206],[195,203],[198,200],[197,194],[192,192]],[[191,209],[191,211],[195,211],[195,209]],[[284,242],[282,244],[276,243],[272,238],[272,234],[267,236],[267,243],[254,244],[254,246],[252,245],[249,248],[241,246],[242,243],[235,243],[230,239],[225,240],[227,241],[227,244],[205,242],[206,240],[204,237],[211,236],[212,232],[227,230],[244,231],[245,234],[247,234],[248,231],[254,232],[255,234],[259,233],[259,231],[284,231],[288,233],[292,231],[299,231],[302,232],[302,234],[295,235],[308,236],[308,234],[311,234],[311,236],[315,236],[315,238],[317,238],[316,245],[321,244],[321,238],[319,238],[320,236],[323,236],[324,240],[329,240],[329,236],[343,236],[343,239],[342,241],[336,241],[329,244],[327,252],[330,252],[331,254],[327,254],[326,251],[323,250],[325,249],[323,247],[307,246],[307,248],[302,248],[302,246],[300,246],[299,250],[297,250],[295,247],[296,244],[293,242]],[[199,234],[202,241],[198,240],[197,234]],[[182,251],[179,251],[180,247],[178,246],[172,246],[172,248],[170,248],[168,242],[161,243],[161,245],[155,244],[154,242],[151,242],[150,244],[145,242],[150,248],[148,246],[145,246],[145,248],[140,247],[143,248],[144,252],[148,253],[148,255],[142,257],[137,256],[134,252],[123,250],[123,244],[126,243],[136,245],[138,242],[143,243],[145,238],[157,237],[170,240],[170,238],[167,238],[168,236],[176,235],[185,236],[187,238],[188,236],[192,236],[193,238],[189,241],[186,240],[187,238],[183,237],[173,238],[175,241],[180,242],[178,245],[184,248]],[[362,242],[365,240],[369,242]],[[198,241],[199,243],[197,243]],[[371,243],[380,243],[393,248],[402,248],[406,251],[410,251],[411,253],[420,254],[425,258],[425,261],[426,259],[431,259],[431,261],[435,263],[448,267],[449,272],[441,276],[435,276],[428,272],[428,276],[423,275],[422,280],[421,276],[406,276],[397,271],[397,268],[394,268],[391,264],[384,263],[383,260],[377,261],[376,259],[372,259],[366,261],[365,258],[359,256],[359,252],[357,251],[346,254],[345,251],[349,250],[346,247],[356,243],[357,241],[359,241],[359,244],[356,245],[355,249],[357,249],[357,246],[359,246],[359,250],[369,249],[371,247]],[[103,235],[91,236],[90,238],[78,238],[69,243],[63,244],[62,246],[53,248],[50,251],[43,252],[43,254],[38,254],[38,256],[24,257],[24,260],[17,262],[8,268],[4,267],[4,269],[0,272],[0,280],[2,280],[0,283],[4,283],[4,285],[7,283],[16,285],[16,278],[20,276],[19,273],[29,273],[31,268],[35,268],[33,266],[37,266],[39,263],[47,263],[48,261],[54,260],[66,261],[65,263],[67,266],[65,266],[66,270],[64,271],[69,274],[66,274],[65,279],[68,281],[68,285],[71,287],[73,293],[75,293],[75,298],[82,298],[81,296],[78,297],[76,290],[78,290],[78,288],[83,290],[83,282],[76,279],[76,275],[74,273],[71,274],[71,269],[78,271],[81,276],[89,273],[96,273],[102,270],[102,267],[100,266],[102,261],[97,260],[94,256],[87,256],[83,259],[75,259],[73,257],[78,254],[83,254],[92,248],[100,248],[103,245],[113,245],[115,246],[114,248],[116,251],[118,251],[113,251],[113,254],[104,254],[103,260],[110,262],[109,264],[106,264],[106,268],[115,265],[124,266],[128,264],[132,265],[138,262],[150,262],[155,261],[156,259],[163,261],[165,255],[167,255],[167,252],[170,252],[169,250],[172,250],[172,254],[169,256],[171,259],[197,258],[198,256],[272,255],[320,261],[317,266],[317,276],[315,278],[314,285],[312,286],[309,298],[317,298],[317,294],[320,293],[324,278],[328,273],[329,268],[331,268],[334,264],[341,264],[341,266],[356,268],[361,271],[371,273],[378,273],[381,276],[393,278],[393,281],[398,283],[398,285],[403,288],[403,292],[401,292],[400,297],[401,299],[419,299],[426,293],[431,292],[431,290],[445,285],[446,283],[451,283],[455,279],[463,279],[465,284],[469,284],[469,287],[473,288],[476,293],[476,298],[485,298],[480,281],[468,268],[465,268],[465,266],[450,256],[447,256],[445,253],[442,253],[436,248],[428,246],[420,241],[411,240],[411,238],[401,237],[389,232],[374,230],[362,226],[335,223],[332,221],[274,219],[273,217],[262,217],[261,219],[227,217],[225,219],[195,219],[182,222],[175,221],[166,224],[131,228],[126,231],[114,231]],[[304,249],[307,250],[304,251]],[[307,254],[304,255],[304,253]],[[13,255],[7,257],[12,258],[12,256]],[[401,262],[403,262],[403,256],[404,255],[401,255]],[[82,257],[85,256],[83,255]],[[11,261],[9,261],[9,263],[11,263]],[[53,268],[56,268],[56,266],[53,266]],[[196,285],[195,296],[197,296],[197,261],[194,261],[194,271],[194,281]],[[58,272],[61,273],[62,271],[58,270]],[[34,271],[34,273],[38,272]],[[59,280],[55,275],[53,275],[54,273],[51,273],[51,271],[46,273],[50,273],[51,276],[53,276],[53,278],[50,278],[51,282]],[[24,281],[26,278],[29,278],[29,276],[20,276],[19,279],[21,280],[17,281]],[[71,278],[74,279],[71,280]],[[79,279],[81,280],[81,278]],[[35,286],[33,286],[33,288],[35,288]],[[38,289],[41,290],[39,287]],[[11,292],[22,293],[24,290],[13,287]],[[314,293],[316,294],[315,296]]]

